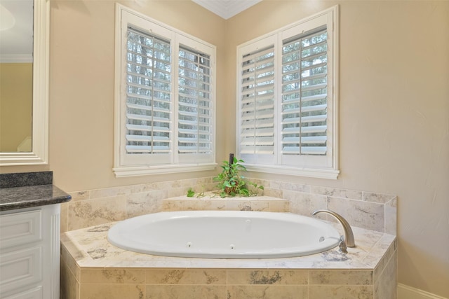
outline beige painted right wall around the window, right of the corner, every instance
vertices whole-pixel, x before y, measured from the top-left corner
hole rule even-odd
[[[341,174],[283,179],[398,195],[399,282],[449,298],[449,1],[264,0],[227,22],[226,99],[237,45],[335,4]]]

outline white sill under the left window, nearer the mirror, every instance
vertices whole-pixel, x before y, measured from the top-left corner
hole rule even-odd
[[[113,168],[116,177],[145,176],[152,174],[175,174],[180,172],[201,172],[213,170],[217,163],[189,165],[146,165]]]

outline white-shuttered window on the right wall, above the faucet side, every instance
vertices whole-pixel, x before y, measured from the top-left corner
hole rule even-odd
[[[337,6],[237,48],[248,170],[336,179]]]

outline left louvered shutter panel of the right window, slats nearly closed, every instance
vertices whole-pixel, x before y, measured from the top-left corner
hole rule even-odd
[[[243,55],[240,154],[274,154],[274,46]]]

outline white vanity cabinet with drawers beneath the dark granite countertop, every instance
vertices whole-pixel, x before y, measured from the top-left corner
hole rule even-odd
[[[60,204],[0,211],[0,298],[56,299]]]

